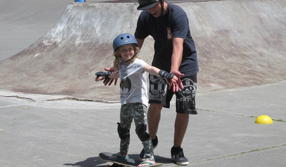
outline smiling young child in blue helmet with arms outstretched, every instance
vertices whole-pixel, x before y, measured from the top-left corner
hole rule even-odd
[[[117,132],[120,137],[120,152],[109,157],[110,160],[128,158],[130,126],[134,119],[135,132],[143,143],[145,161],[138,166],[155,164],[151,137],[147,130],[148,91],[146,72],[164,77],[167,83],[175,84],[174,74],[148,65],[138,59],[138,43],[131,34],[120,34],[113,41],[114,72],[96,72],[96,82],[105,78],[120,78],[120,123]]]

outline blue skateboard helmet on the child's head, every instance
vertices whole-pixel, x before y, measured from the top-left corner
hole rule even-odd
[[[120,34],[113,40],[113,52],[115,52],[119,47],[127,44],[134,44],[138,46],[137,40],[131,34]]]

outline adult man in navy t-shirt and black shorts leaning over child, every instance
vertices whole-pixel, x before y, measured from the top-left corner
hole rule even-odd
[[[189,20],[181,7],[164,2],[164,0],[138,0],[138,3],[137,10],[143,10],[134,33],[139,48],[142,47],[146,37],[152,36],[155,40],[152,66],[170,71],[177,78],[181,77],[182,82],[178,82],[178,84],[182,89],[176,93],[177,114],[171,158],[176,161],[177,165],[188,165],[189,161],[184,156],[181,144],[188,126],[189,114],[197,114],[195,91],[199,71]],[[174,93],[167,89],[166,81],[162,78],[149,75],[149,82],[150,106],[147,121],[149,134],[155,148],[158,144],[156,134],[162,107],[170,108],[170,101]],[[164,89],[162,86],[165,86]],[[177,89],[178,87],[176,91],[178,91]],[[144,160],[143,155],[144,152],[141,152],[141,160]]]

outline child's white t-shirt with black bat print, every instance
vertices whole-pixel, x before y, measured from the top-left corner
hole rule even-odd
[[[147,63],[135,59],[132,64],[119,65],[120,75],[120,100],[121,105],[127,103],[143,103],[148,106],[147,78],[143,71]]]

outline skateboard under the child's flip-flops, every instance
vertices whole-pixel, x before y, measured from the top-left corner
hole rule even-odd
[[[112,154],[113,153],[110,153],[110,152],[103,152],[103,153],[99,153],[98,156],[103,161],[113,162],[115,164],[119,164],[119,165],[126,166],[126,167],[137,167],[137,165],[139,165],[142,162],[142,161],[134,160],[131,158],[125,158],[122,160],[109,160],[108,157],[110,157]],[[148,167],[157,167],[157,166],[161,166],[161,165],[163,165],[163,164],[156,163],[154,165],[148,165]]]

